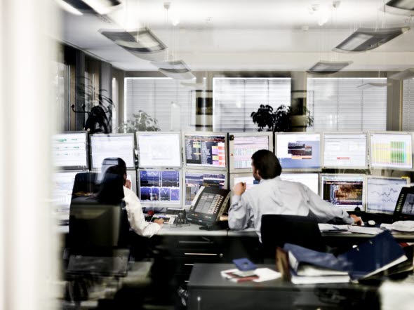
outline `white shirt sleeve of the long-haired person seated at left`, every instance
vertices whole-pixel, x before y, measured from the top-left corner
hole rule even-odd
[[[145,221],[140,199],[131,189],[123,187],[123,200],[126,202],[126,213],[131,229],[140,236],[150,238],[158,233],[161,225]]]

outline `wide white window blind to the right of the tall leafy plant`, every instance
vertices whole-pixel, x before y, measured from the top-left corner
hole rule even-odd
[[[307,108],[314,117],[308,131],[387,129],[387,87],[357,88],[387,79],[308,78]]]

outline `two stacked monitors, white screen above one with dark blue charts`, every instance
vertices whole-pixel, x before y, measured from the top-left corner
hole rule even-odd
[[[178,132],[139,132],[138,196],[152,208],[182,204],[181,144]]]

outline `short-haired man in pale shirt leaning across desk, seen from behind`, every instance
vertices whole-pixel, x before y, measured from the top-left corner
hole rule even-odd
[[[306,185],[281,180],[282,168],[272,151],[256,151],[252,156],[252,168],[253,177],[260,184],[248,191],[245,183],[234,185],[229,208],[230,229],[254,227],[261,242],[260,226],[264,214],[312,216],[321,223],[339,220],[345,224],[361,224],[360,217],[349,216],[344,210],[323,201]]]

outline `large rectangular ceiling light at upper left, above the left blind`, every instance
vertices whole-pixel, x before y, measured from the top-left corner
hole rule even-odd
[[[116,45],[145,60],[159,60],[159,57],[154,57],[154,54],[159,54],[167,48],[148,28],[128,32],[123,29],[100,29],[99,32],[114,41]]]

